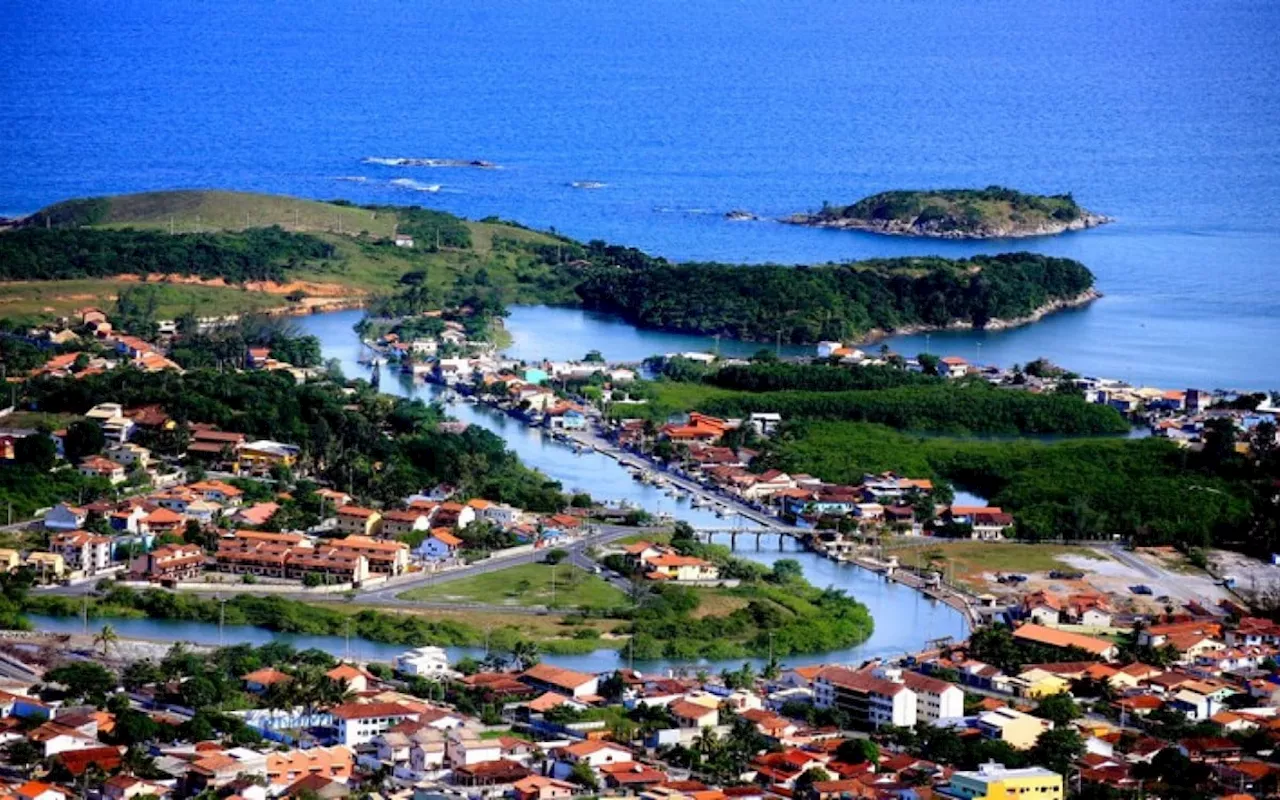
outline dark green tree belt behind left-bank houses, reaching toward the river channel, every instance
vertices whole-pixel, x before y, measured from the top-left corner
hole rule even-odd
[[[183,426],[211,422],[298,444],[303,466],[369,500],[393,502],[447,481],[467,495],[535,511],[563,506],[559,484],[522,466],[497,435],[475,425],[462,434],[440,433],[438,408],[378,394],[365,384],[348,397],[339,385],[297,385],[280,372],[179,375],[122,367],[79,379],[38,378],[24,387],[23,398],[40,411],[70,413],[104,398],[125,407],[157,403]]]

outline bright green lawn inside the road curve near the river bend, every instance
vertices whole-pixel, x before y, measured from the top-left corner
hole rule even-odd
[[[554,608],[612,608],[627,602],[623,593],[585,570],[570,564],[552,567],[541,563],[520,564],[438,586],[424,586],[399,596],[406,600]]]

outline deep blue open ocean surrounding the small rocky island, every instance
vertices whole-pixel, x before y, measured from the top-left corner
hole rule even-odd
[[[1280,4],[1247,0],[8,0],[0,214],[220,187],[497,214],[689,260],[1032,248],[1082,260],[1106,297],[933,349],[1276,387],[1277,52]],[[1117,223],[963,243],[723,219],[991,183],[1071,191]]]

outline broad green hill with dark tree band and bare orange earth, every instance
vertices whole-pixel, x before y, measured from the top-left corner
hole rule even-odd
[[[396,247],[396,233],[413,237],[415,247]],[[407,274],[442,303],[476,292],[504,302],[573,302],[568,271],[548,257],[557,242],[417,206],[195,189],[69,200],[0,234],[0,282],[8,282],[0,315],[64,314],[88,300],[110,302],[148,278],[165,282],[163,314],[257,311],[298,296],[338,303],[399,291]],[[239,285],[264,280],[278,285],[266,293]]]

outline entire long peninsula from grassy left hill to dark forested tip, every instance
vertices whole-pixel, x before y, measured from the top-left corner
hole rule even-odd
[[[50,206],[0,233],[0,280],[13,282],[8,316],[22,321],[138,282],[164,287],[151,300],[165,316],[343,307],[413,287],[430,307],[581,305],[648,328],[797,344],[1007,326],[1096,297],[1084,265],[1036,253],[673,264],[495,218],[211,191]],[[42,291],[50,282],[67,291]]]

